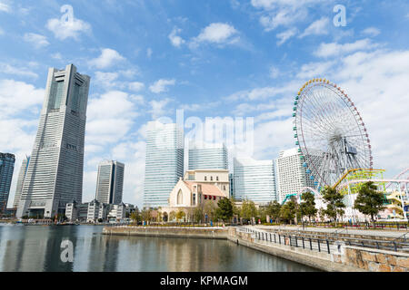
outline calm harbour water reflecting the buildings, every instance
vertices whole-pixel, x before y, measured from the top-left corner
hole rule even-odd
[[[0,226],[0,271],[315,271],[225,240],[116,237],[98,226]],[[60,259],[61,242],[74,245],[74,262]]]

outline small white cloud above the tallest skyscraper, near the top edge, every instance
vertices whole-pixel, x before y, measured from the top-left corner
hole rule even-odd
[[[54,33],[55,38],[65,40],[67,38],[78,39],[79,34],[89,34],[91,25],[81,19],[73,18],[72,21],[64,21],[63,19],[49,19],[45,27]]]

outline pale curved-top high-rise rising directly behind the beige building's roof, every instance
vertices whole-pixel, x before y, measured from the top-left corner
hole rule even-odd
[[[229,169],[227,148],[223,144],[189,144],[189,170]]]

